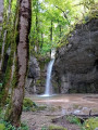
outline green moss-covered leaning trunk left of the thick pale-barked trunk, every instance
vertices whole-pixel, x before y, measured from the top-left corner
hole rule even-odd
[[[16,4],[16,3],[15,3]],[[7,12],[9,12],[8,17],[5,18],[7,22],[5,24],[9,26],[5,28],[3,34],[5,35],[5,40],[4,43],[4,52],[3,52],[3,61],[2,61],[2,67],[1,67],[1,81],[2,88],[0,88],[0,105],[4,106],[5,105],[5,100],[9,94],[9,89],[11,89],[11,81],[12,81],[12,66],[13,66],[13,61],[14,61],[14,53],[16,50],[16,34],[17,34],[17,5],[16,9],[14,9],[13,13],[16,14],[16,16],[12,20],[12,12],[11,12],[11,6],[12,6],[12,0],[9,0]],[[4,20],[4,21],[5,21]],[[12,24],[13,22],[13,24]],[[12,24],[12,25],[11,25]],[[13,36],[13,37],[12,37]],[[10,51],[9,51],[10,50]]]

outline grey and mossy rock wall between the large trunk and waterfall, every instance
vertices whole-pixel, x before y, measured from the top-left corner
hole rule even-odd
[[[29,94],[41,94],[45,92],[47,65],[50,57],[38,57],[30,55],[28,75],[26,79],[26,92]]]

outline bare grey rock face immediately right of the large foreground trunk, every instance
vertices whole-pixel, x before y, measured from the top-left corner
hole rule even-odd
[[[29,57],[28,75],[26,78],[25,88],[28,93],[37,93],[36,80],[40,78],[40,68],[37,58]]]

